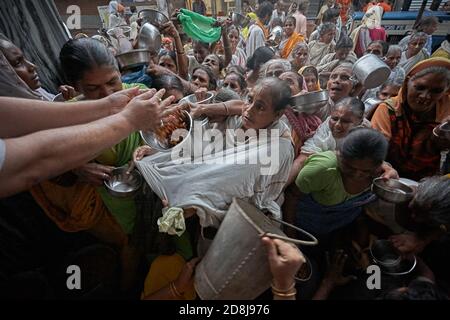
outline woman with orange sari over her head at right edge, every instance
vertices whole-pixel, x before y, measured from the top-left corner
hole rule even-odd
[[[375,111],[372,126],[389,139],[388,161],[401,177],[420,180],[439,171],[448,141],[433,129],[450,116],[449,88],[450,62],[424,60],[407,74],[398,96]]]

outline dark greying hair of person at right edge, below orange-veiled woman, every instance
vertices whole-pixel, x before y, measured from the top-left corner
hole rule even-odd
[[[413,205],[428,214],[431,224],[450,223],[450,179],[434,176],[422,180]]]

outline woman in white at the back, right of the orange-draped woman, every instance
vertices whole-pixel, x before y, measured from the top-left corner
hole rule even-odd
[[[310,41],[308,44],[309,60],[312,65],[317,65],[329,53],[334,52],[333,40],[336,26],[333,23],[324,23],[319,29],[319,40]]]

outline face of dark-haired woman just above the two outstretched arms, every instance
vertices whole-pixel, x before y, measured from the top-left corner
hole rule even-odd
[[[120,72],[114,67],[101,66],[84,73],[75,89],[89,100],[101,99],[122,90]]]

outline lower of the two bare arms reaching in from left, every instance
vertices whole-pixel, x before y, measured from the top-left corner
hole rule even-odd
[[[74,169],[136,130],[158,126],[162,108],[168,106],[173,97],[159,104],[165,91],[154,92],[151,90],[134,98],[122,112],[95,122],[6,139],[6,157],[0,170],[0,197]]]

